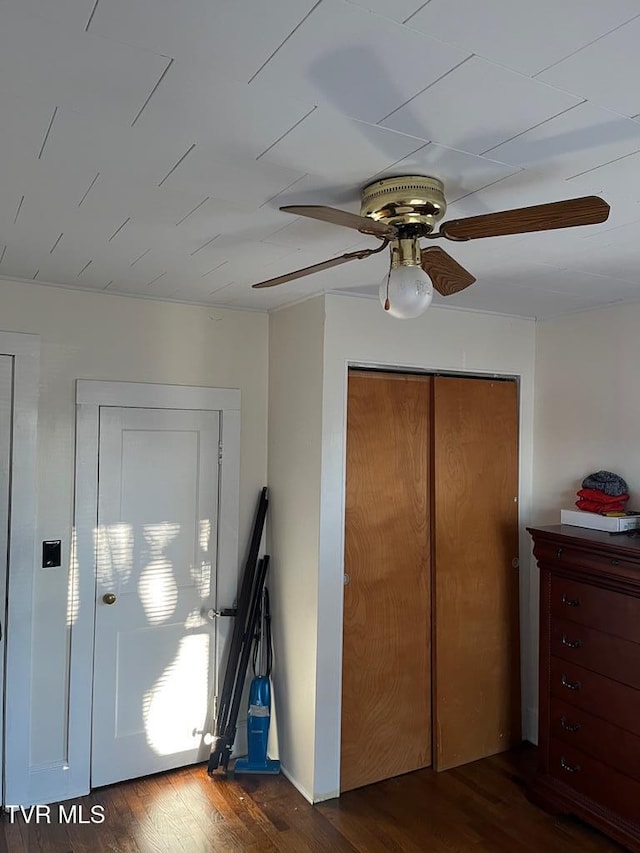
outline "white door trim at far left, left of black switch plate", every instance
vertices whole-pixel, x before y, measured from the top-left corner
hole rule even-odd
[[[40,336],[0,331],[0,353],[13,357],[13,414],[7,565],[4,702],[4,802],[21,803],[30,764],[31,635],[36,571]]]

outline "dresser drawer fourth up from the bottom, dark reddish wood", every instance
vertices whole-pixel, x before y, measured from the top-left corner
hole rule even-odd
[[[639,643],[554,617],[551,654],[640,689]]]

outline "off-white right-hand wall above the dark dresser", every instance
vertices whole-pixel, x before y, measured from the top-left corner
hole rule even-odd
[[[587,474],[615,471],[640,506],[640,304],[537,327],[534,520],[557,524]]]

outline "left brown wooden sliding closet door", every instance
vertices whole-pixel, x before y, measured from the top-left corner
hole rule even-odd
[[[431,763],[430,381],[349,373],[342,791]]]

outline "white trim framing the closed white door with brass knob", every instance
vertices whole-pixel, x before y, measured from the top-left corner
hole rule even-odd
[[[70,561],[71,643],[67,762],[57,776],[55,799],[90,790],[93,648],[98,513],[99,420],[102,406],[216,411],[224,453],[219,470],[216,606],[229,606],[238,576],[240,498],[240,391],[142,382],[76,381],[74,531]],[[226,570],[225,570],[226,569]]]

